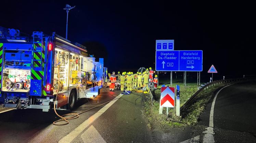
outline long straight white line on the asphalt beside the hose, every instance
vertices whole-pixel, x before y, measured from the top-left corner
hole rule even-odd
[[[119,94],[116,98],[121,98],[123,94]],[[116,101],[113,100],[101,108],[97,113],[90,116],[86,121],[80,124],[77,128],[75,128],[72,132],[63,137],[59,143],[71,143],[82,131],[84,131],[87,127],[89,127],[100,115],[102,115],[110,106],[112,106]]]

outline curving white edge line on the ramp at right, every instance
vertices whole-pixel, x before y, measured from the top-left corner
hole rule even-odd
[[[235,83],[233,83],[235,84]],[[209,127],[206,128],[206,131],[204,131],[203,133],[204,134],[204,138],[203,138],[203,143],[214,143],[214,131],[213,131],[213,113],[214,113],[214,105],[215,105],[215,101],[216,101],[216,98],[218,96],[218,94],[220,93],[220,91],[228,86],[230,86],[232,84],[229,84],[227,86],[224,86],[223,88],[221,88],[217,93],[216,95],[214,96],[213,98],[213,103],[212,103],[212,107],[211,107],[211,111],[210,111],[210,119],[209,119]]]

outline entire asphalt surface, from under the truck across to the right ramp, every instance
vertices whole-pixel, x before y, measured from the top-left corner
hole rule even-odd
[[[220,89],[220,88],[219,88]],[[147,94],[132,93],[123,95],[108,108],[88,128],[85,128],[74,140],[78,142],[173,142],[179,143],[193,137],[203,141],[205,128],[209,126],[209,114],[214,95],[196,126],[171,128],[169,130],[155,126],[149,129],[143,115],[142,100]],[[107,90],[107,89],[106,89]],[[115,98],[120,91],[101,91],[99,103]],[[97,98],[78,102],[73,111],[79,113],[95,107]],[[256,142],[256,82],[236,83],[224,88],[216,98],[214,109],[215,142]],[[81,114],[70,120],[68,125],[54,126],[59,119],[54,112],[42,112],[37,109],[16,110],[0,114],[0,142],[58,142],[69,132],[78,127],[103,106]],[[60,114],[70,113],[58,111]],[[89,136],[93,134],[93,136]]]

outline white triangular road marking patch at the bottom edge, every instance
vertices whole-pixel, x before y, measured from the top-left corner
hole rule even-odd
[[[106,143],[100,133],[92,125],[81,134],[81,138],[84,143]]]

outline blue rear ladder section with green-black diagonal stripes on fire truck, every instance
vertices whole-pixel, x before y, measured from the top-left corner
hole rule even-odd
[[[30,95],[41,96],[42,83],[45,73],[47,37],[43,32],[33,32],[32,65],[31,65],[31,87]]]

